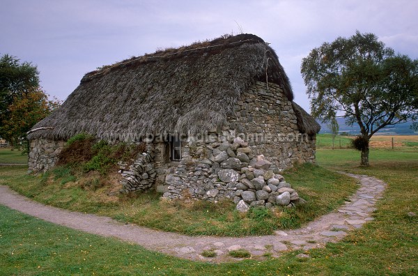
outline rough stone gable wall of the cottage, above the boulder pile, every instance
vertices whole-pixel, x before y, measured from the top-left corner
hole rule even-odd
[[[264,155],[279,169],[315,162],[316,137],[300,133],[291,102],[275,84],[257,82],[242,93],[235,116],[223,129],[248,141],[256,155]]]

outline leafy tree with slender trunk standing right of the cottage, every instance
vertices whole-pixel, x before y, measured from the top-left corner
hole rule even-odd
[[[369,166],[369,140],[382,128],[417,119],[418,60],[394,54],[373,33],[323,43],[302,60],[311,112],[357,123],[355,146]]]

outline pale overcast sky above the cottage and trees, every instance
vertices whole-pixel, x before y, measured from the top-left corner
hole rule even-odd
[[[86,72],[225,33],[271,43],[309,110],[300,63],[311,49],[356,30],[418,58],[418,0],[0,0],[0,54],[38,66],[41,85],[61,100]]]

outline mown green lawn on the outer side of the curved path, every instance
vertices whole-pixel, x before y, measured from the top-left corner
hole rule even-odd
[[[375,220],[340,243],[304,252],[308,259],[296,258],[300,252],[286,252],[262,262],[185,261],[1,207],[1,271],[4,275],[418,275],[418,219],[411,214],[418,213],[418,153],[372,150],[370,162],[371,167],[359,167],[359,153],[352,150],[318,150],[321,166],[376,176],[388,187],[378,201]]]

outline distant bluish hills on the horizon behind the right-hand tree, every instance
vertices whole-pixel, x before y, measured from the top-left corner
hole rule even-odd
[[[339,123],[339,133],[346,132],[350,135],[358,135],[360,132],[359,125],[355,123],[353,126],[346,125],[344,118],[336,118],[336,121]],[[410,128],[412,123],[400,123],[398,125],[391,125],[387,128],[382,128],[376,135],[418,135],[417,131],[414,131]],[[319,133],[331,133],[330,129],[327,128],[326,123],[320,123],[320,132]]]

